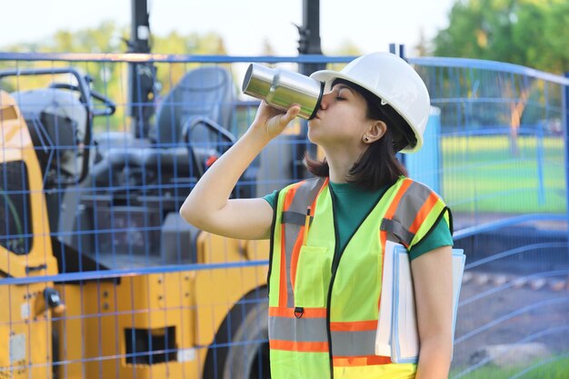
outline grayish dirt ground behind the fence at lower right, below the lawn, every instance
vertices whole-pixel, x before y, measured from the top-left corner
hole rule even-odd
[[[471,274],[461,290],[461,302],[465,304],[458,308],[453,366],[480,362],[484,347],[495,344],[540,343],[551,354],[569,350],[566,277],[518,281],[520,287],[514,288],[516,278],[512,275]],[[472,301],[473,296],[479,295],[479,299]]]

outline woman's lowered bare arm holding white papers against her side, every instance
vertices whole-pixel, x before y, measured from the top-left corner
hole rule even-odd
[[[453,349],[453,249],[436,248],[411,261],[421,350],[416,379],[445,379]]]

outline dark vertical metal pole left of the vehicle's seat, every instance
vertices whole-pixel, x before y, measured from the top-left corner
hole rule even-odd
[[[129,53],[150,53],[150,23],[147,0],[131,1],[131,35],[128,41]],[[128,66],[129,115],[132,131],[137,138],[148,135],[149,120],[154,114],[155,66],[150,62],[130,63]]]

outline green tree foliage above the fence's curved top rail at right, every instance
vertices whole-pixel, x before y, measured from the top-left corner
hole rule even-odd
[[[434,55],[490,59],[562,74],[569,70],[566,0],[457,0]]]

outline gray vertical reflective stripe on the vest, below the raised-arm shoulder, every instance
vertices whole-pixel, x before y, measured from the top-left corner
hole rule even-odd
[[[316,198],[318,191],[324,184],[323,178],[314,178],[305,180],[304,183],[296,188],[293,201],[285,212],[306,215],[306,207],[310,206]],[[304,222],[302,223],[304,225]],[[291,261],[293,257],[293,248],[296,238],[300,233],[300,225],[284,224],[284,254],[286,258],[286,306],[294,307],[294,288],[291,283]],[[281,252],[282,254],[282,252]],[[281,258],[282,259],[282,258]]]

